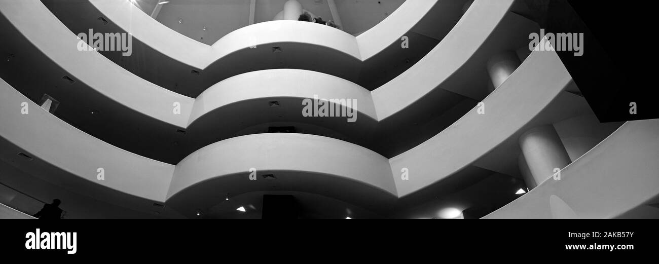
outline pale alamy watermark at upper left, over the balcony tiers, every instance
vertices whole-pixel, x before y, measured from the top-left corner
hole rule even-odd
[[[78,51],[123,51],[123,57],[132,54],[132,35],[127,33],[94,33],[90,28],[78,34],[78,39]]]

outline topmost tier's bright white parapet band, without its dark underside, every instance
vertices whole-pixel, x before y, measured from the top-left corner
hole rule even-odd
[[[239,49],[276,42],[322,45],[365,61],[409,32],[437,1],[407,0],[380,24],[357,38],[321,24],[275,20],[240,28],[208,46],[167,28],[129,1],[90,0],[96,9],[134,38],[172,59],[200,69]]]

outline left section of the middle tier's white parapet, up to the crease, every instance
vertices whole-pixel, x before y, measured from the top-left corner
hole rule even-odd
[[[134,12],[144,14],[136,7]],[[70,78],[134,111],[174,126],[187,125],[194,99],[147,82],[98,52],[78,51],[80,40],[76,34],[41,1],[0,1],[0,13],[43,54],[69,72]],[[181,103],[181,115],[173,114],[175,102]]]

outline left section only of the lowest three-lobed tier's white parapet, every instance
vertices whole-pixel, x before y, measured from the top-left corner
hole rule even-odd
[[[22,114],[23,103],[27,115]],[[113,190],[165,201],[173,165],[119,149],[74,128],[4,80],[0,80],[0,124],[1,137],[64,171]],[[97,179],[99,168],[105,180]]]

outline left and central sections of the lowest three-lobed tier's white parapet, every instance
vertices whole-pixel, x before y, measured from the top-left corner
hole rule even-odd
[[[173,195],[208,178],[239,172],[248,176],[252,167],[348,178],[396,194],[386,157],[341,140],[287,133],[243,136],[204,147],[175,167],[85,134],[6,82],[0,83],[0,95],[2,138],[73,175],[139,198],[163,202],[168,190]],[[21,113],[23,102],[27,115]],[[105,180],[97,179],[98,168]]]

